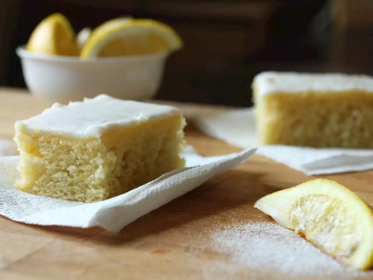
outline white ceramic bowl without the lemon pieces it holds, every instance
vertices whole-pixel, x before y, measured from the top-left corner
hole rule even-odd
[[[152,99],[162,82],[168,53],[128,57],[50,56],[16,50],[31,93],[48,102],[67,104],[108,94],[119,99]]]

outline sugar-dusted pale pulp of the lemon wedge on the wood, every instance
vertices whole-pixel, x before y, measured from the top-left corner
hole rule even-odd
[[[308,195],[294,203],[289,220],[296,234],[342,260],[356,251],[362,237],[354,216],[353,209],[349,211],[339,199]]]

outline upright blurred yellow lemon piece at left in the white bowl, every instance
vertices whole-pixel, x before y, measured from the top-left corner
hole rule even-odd
[[[60,13],[54,13],[43,19],[26,44],[26,50],[46,55],[77,56],[75,33],[69,20]]]

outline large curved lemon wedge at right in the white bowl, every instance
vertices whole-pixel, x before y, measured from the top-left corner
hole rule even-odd
[[[80,57],[147,55],[181,47],[181,38],[168,25],[153,19],[128,19],[95,29]]]

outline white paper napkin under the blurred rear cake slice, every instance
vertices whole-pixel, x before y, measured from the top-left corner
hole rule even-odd
[[[253,109],[200,115],[195,125],[204,133],[288,165],[307,175],[362,171],[373,168],[373,150],[317,149],[295,146],[258,146]]]

